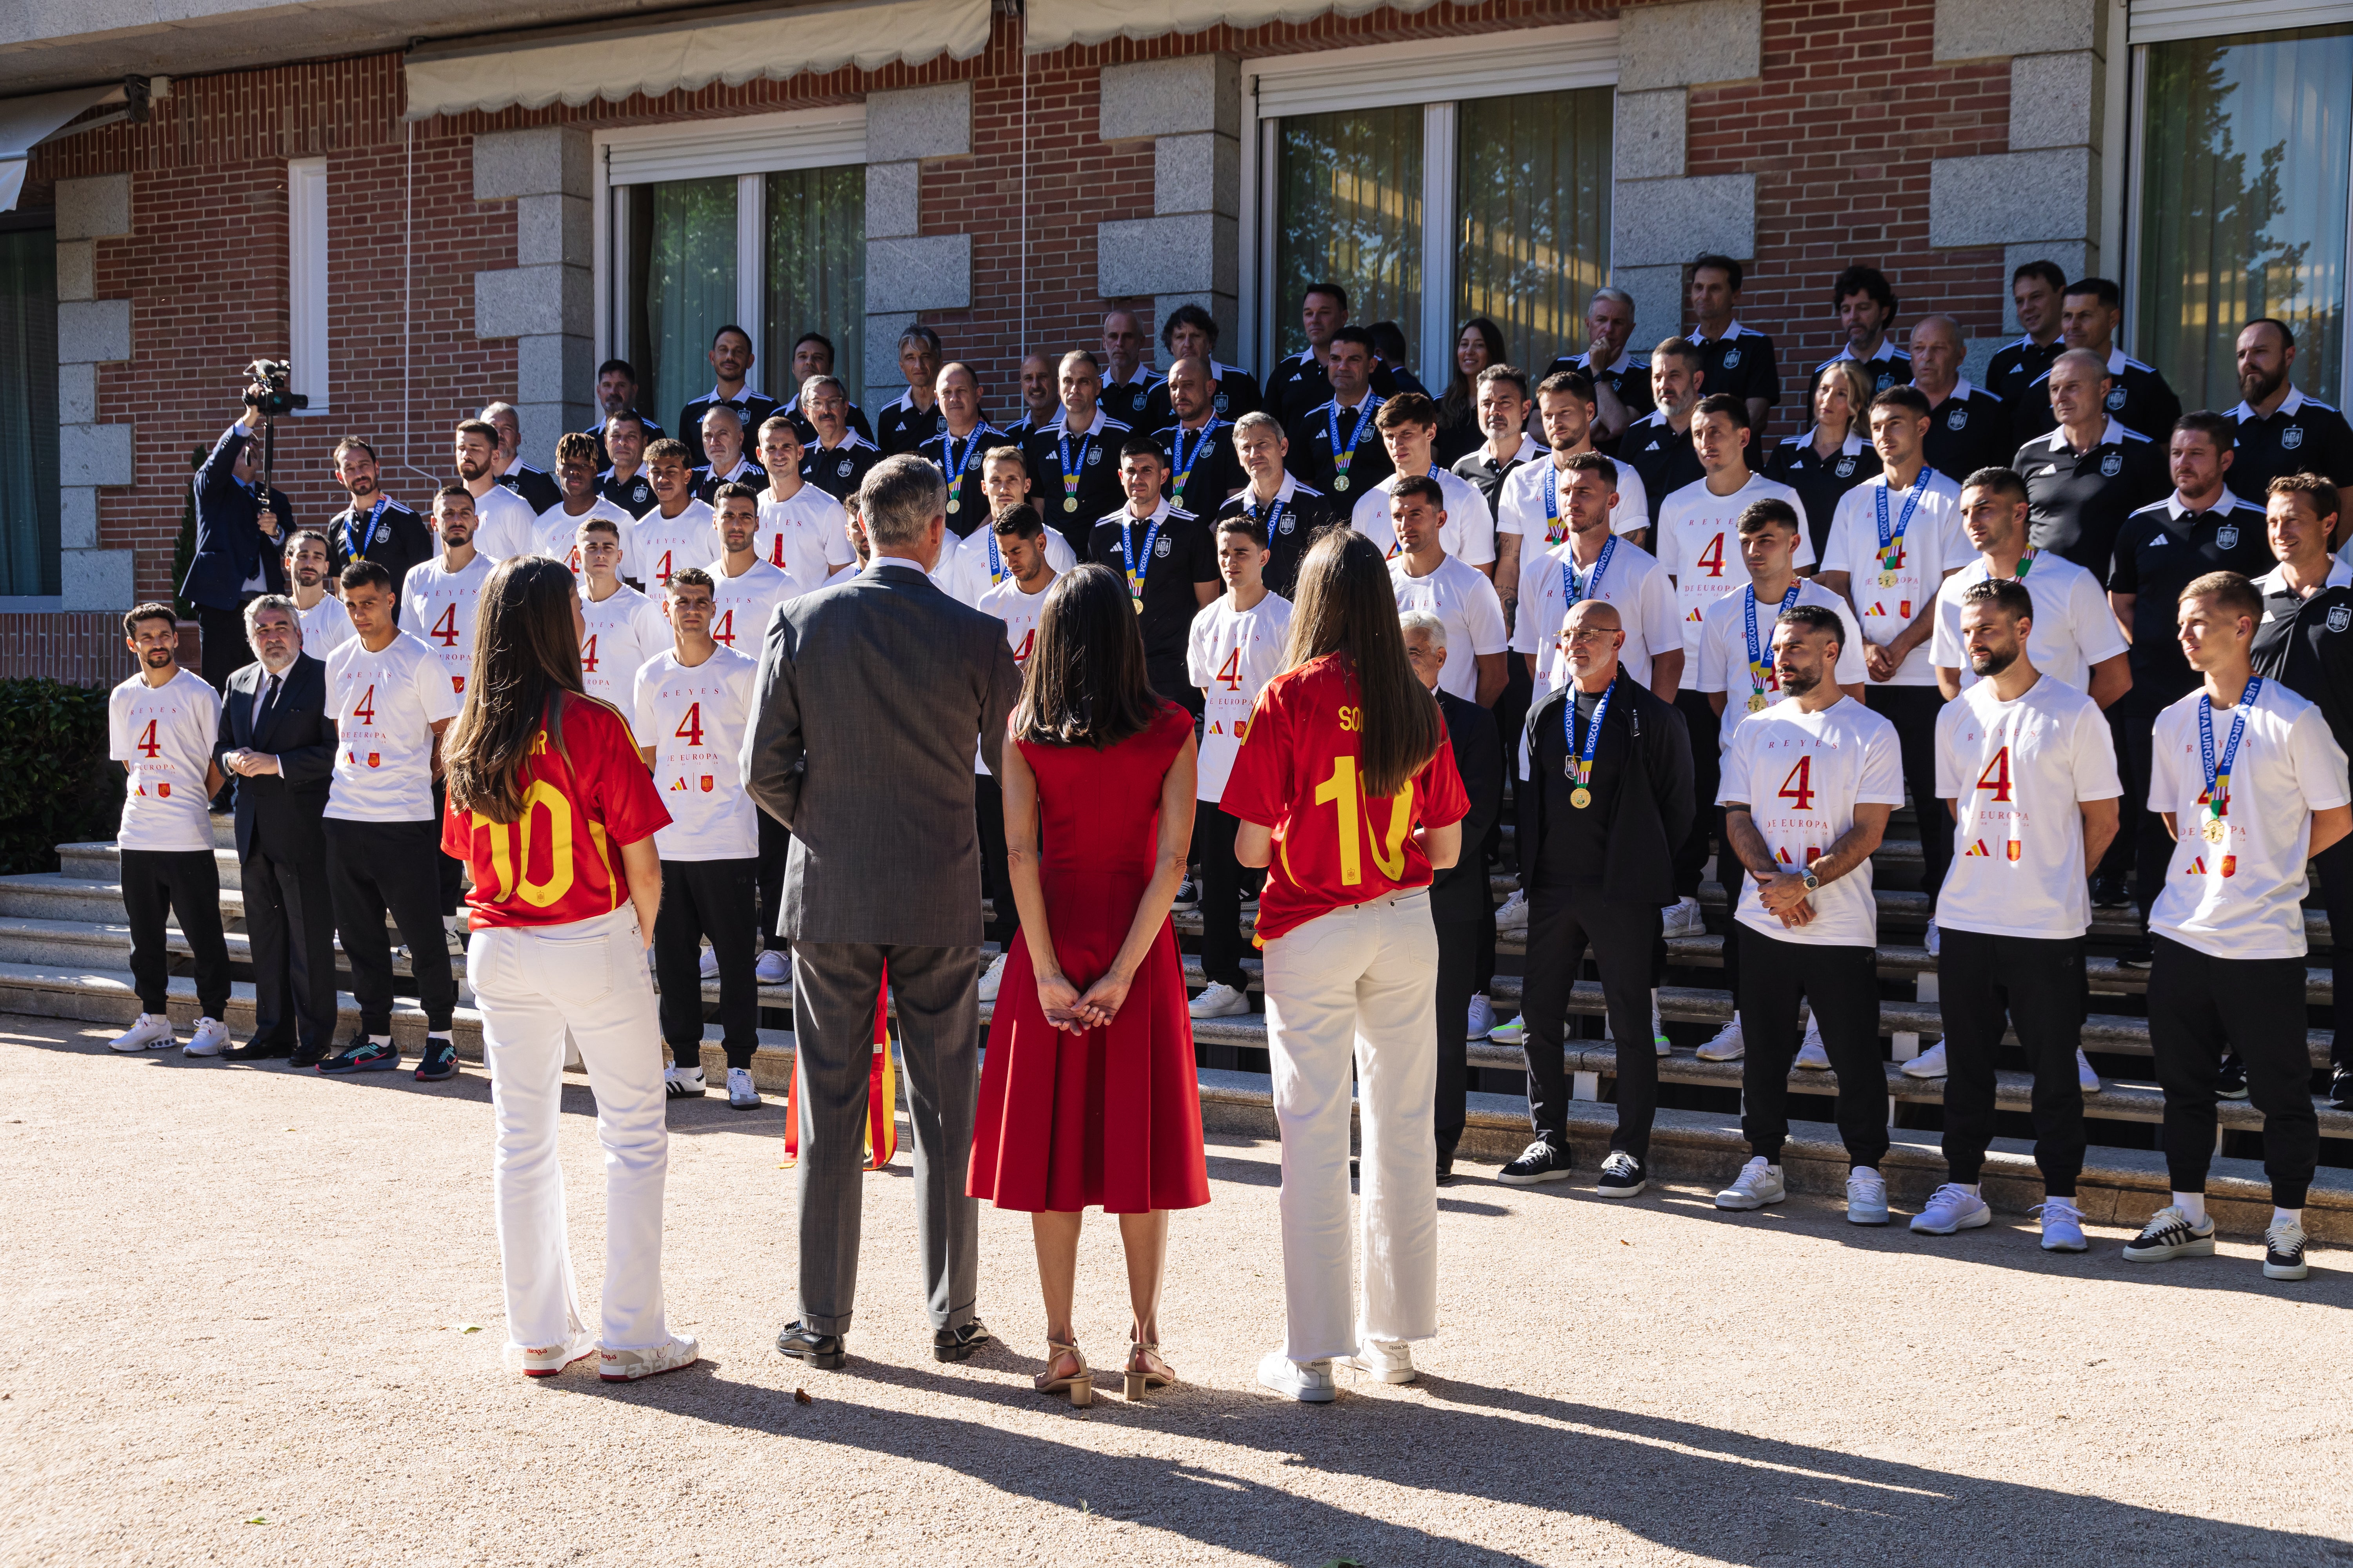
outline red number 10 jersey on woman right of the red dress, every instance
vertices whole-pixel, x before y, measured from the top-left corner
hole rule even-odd
[[[1414,827],[1471,816],[1442,722],[1438,755],[1395,797],[1365,799],[1360,712],[1355,670],[1327,654],[1266,682],[1249,715],[1219,804],[1275,835],[1259,896],[1261,947],[1329,910],[1428,886],[1431,858]]]

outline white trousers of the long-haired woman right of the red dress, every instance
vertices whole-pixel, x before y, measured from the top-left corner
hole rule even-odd
[[[1431,893],[1332,910],[1266,945],[1282,1126],[1282,1298],[1292,1361],[1438,1333],[1438,931]],[[1348,1067],[1362,1107],[1351,1312]]]

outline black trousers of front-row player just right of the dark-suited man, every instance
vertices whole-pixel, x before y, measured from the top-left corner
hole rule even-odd
[[[449,1030],[456,980],[440,924],[440,823],[353,823],[327,818],[327,886],[334,891],[334,931],[351,959],[351,994],[362,1034],[393,1032],[393,943],[384,917],[400,926],[416,976],[426,1027]],[[640,959],[642,964],[642,959]],[[478,987],[480,990],[480,987]]]

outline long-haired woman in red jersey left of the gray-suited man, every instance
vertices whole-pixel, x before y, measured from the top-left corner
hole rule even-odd
[[[581,602],[562,562],[522,555],[489,574],[445,757],[442,851],[473,875],[466,976],[499,1128],[508,1345],[527,1378],[598,1349],[607,1382],[687,1366],[694,1340],[671,1333],[661,1305],[671,1135],[645,971],[661,907],[654,830],[671,813],[628,722],[581,691]],[[565,1241],[565,1030],[588,1063],[605,1145],[602,1335],[581,1319]]]

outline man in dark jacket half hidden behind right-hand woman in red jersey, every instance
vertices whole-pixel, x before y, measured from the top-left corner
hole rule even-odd
[[[1504,811],[1504,748],[1494,738],[1494,715],[1438,689],[1447,668],[1447,623],[1426,609],[1409,609],[1405,658],[1414,675],[1438,698],[1454,748],[1454,771],[1464,776],[1471,816],[1464,818],[1464,844],[1480,844]],[[1473,839],[1471,835],[1480,835]],[[1471,992],[1478,990],[1480,959],[1494,959],[1494,898],[1487,893],[1485,856],[1464,856],[1431,879],[1431,919],[1438,924],[1438,1180],[1454,1175],[1454,1147],[1464,1138]]]

